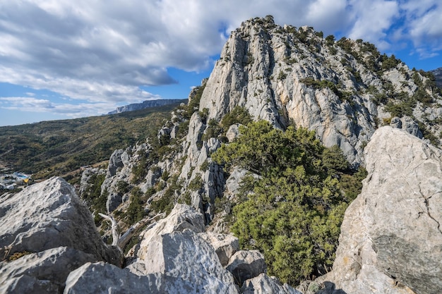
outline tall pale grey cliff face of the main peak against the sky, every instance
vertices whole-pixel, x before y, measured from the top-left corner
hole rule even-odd
[[[338,44],[311,27],[297,30],[275,25],[271,17],[254,18],[230,35],[199,109],[208,109],[208,119],[217,121],[235,106],[277,128],[292,120],[316,130],[325,146],[339,145],[352,164],[360,164],[379,120],[389,117],[378,100],[401,92],[413,96],[419,88],[405,64],[387,67],[382,58],[364,42]],[[415,81],[425,84],[428,79],[416,74]]]

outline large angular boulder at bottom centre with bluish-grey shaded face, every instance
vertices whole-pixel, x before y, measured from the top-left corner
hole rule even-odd
[[[181,278],[193,285],[193,293],[238,293],[213,247],[189,229],[155,235],[143,252],[143,259],[128,267],[134,274]]]

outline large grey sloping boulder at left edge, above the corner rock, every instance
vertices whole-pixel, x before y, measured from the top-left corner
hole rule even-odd
[[[25,188],[0,202],[0,256],[72,247],[121,264],[121,252],[103,243],[88,207],[62,178]]]

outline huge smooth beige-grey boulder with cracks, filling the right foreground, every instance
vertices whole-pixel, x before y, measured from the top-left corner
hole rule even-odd
[[[345,212],[333,271],[318,281],[345,293],[440,293],[441,149],[383,127],[365,159],[369,175]]]

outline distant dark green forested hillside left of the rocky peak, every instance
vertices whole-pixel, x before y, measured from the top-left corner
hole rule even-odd
[[[107,161],[114,149],[155,136],[175,107],[0,127],[0,164],[38,179]]]

